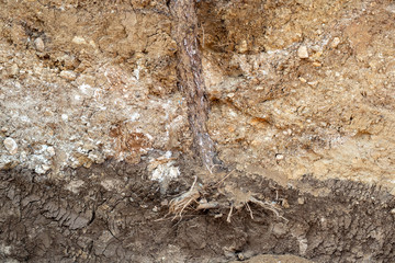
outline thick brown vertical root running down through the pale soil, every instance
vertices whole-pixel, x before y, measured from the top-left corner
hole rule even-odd
[[[172,0],[174,16],[172,37],[178,45],[179,88],[188,103],[189,123],[193,136],[193,151],[202,164],[214,165],[215,147],[206,128],[208,101],[202,75],[202,58],[198,44],[198,16],[194,0]]]

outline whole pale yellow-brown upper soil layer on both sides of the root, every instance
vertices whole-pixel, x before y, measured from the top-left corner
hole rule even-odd
[[[191,156],[166,1],[0,2],[0,169]],[[286,185],[304,174],[395,193],[395,4],[200,1],[219,159]]]

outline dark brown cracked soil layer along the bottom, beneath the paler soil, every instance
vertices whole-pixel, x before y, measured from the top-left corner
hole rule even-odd
[[[2,171],[0,261],[227,262],[289,253],[315,262],[395,262],[395,201],[379,187],[306,176],[298,187],[316,190],[313,196],[238,176],[240,190],[286,199],[282,215],[289,221],[253,204],[253,219],[245,207],[230,224],[228,209],[188,210],[182,220],[171,220],[166,201],[187,191],[193,174],[184,169],[185,181],[161,195],[145,168],[106,162],[70,170],[71,180],[84,182],[68,187],[74,192],[27,170]],[[103,187],[106,180],[119,184],[112,191]]]

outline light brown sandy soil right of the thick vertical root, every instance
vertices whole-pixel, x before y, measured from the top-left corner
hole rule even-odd
[[[394,191],[393,4],[301,1],[272,8],[266,11],[270,19],[250,31],[259,23],[251,14],[229,22],[236,3],[218,11],[232,23],[224,42],[247,42],[228,65],[218,67],[217,54],[207,52],[208,78],[215,72],[210,128],[222,159],[244,171],[275,170],[284,183],[312,174]],[[297,55],[303,47],[307,58]],[[232,66],[242,77],[226,77]]]

